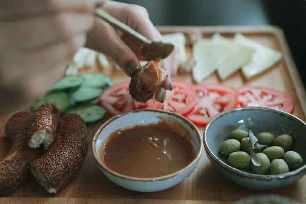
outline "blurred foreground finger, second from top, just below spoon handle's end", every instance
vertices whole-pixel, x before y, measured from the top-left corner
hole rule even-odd
[[[77,33],[85,33],[94,22],[90,14],[58,13],[5,22],[1,35],[5,49],[36,49]]]

